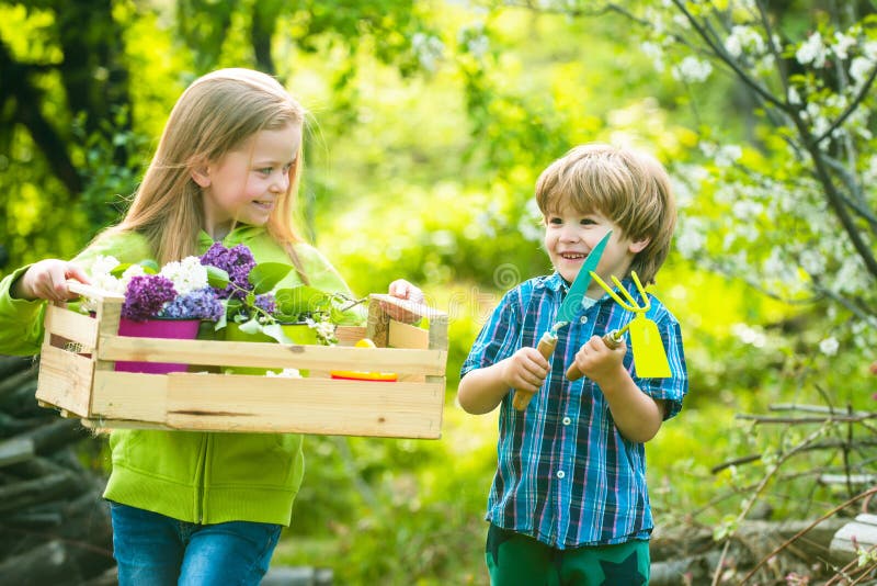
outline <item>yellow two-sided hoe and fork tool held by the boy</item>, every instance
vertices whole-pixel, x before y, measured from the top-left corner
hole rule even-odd
[[[646,294],[646,290],[642,288],[642,283],[639,282],[639,277],[637,277],[637,273],[635,271],[630,271],[630,275],[634,278],[634,282],[637,285],[639,295],[646,300],[646,305],[642,307],[640,307],[630,293],[628,293],[627,290],[622,286],[620,281],[618,281],[615,275],[612,277],[612,281],[618,288],[618,291],[620,291],[622,294],[627,298],[628,303],[625,303],[612,289],[610,289],[610,286],[603,282],[603,280],[596,273],[591,273],[591,277],[594,279],[594,281],[596,281],[597,284],[602,286],[613,300],[615,300],[615,303],[628,312],[636,313],[634,319],[631,319],[630,323],[620,330],[615,329],[603,336],[603,341],[607,347],[614,350],[620,343],[624,333],[629,329],[630,346],[634,349],[634,365],[637,369],[637,376],[641,379],[668,379],[670,376],[670,364],[667,361],[667,352],[664,351],[664,345],[661,341],[661,335],[658,331],[658,325],[646,317],[646,312],[651,308],[651,302],[649,301],[649,296]],[[581,379],[581,376],[582,372],[576,364],[572,364],[569,369],[567,369],[567,379],[570,381],[577,381]]]

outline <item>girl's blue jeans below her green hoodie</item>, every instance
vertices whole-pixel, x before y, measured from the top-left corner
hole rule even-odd
[[[259,584],[281,526],[197,525],[110,503],[119,586]]]

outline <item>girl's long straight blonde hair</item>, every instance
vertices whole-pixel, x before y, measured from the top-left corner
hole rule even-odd
[[[276,79],[251,69],[220,69],[196,79],[171,111],[158,148],[125,218],[111,230],[146,235],[160,263],[197,253],[204,226],[201,188],[192,170],[220,160],[260,131],[301,126],[305,110]],[[301,146],[266,229],[292,252]]]

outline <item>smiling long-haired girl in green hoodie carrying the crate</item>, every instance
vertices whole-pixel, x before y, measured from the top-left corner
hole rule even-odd
[[[72,261],[46,259],[0,281],[0,352],[35,354],[46,300],[73,295],[100,255],[159,263],[214,241],[257,262],[292,261],[278,286],[350,290],[294,229],[305,111],[272,77],[223,69],[174,105],[125,218]],[[421,301],[399,280],[390,294]],[[22,336],[21,331],[25,335]],[[119,584],[258,584],[301,483],[301,437],[115,430],[111,506]]]

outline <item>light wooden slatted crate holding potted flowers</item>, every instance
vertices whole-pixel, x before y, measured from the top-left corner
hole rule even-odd
[[[334,347],[132,338],[117,335],[121,296],[71,289],[96,300],[96,315],[48,305],[36,398],[89,427],[441,437],[442,312],[373,294],[367,326],[340,326]],[[429,319],[429,329],[391,319],[390,306]],[[364,337],[378,348],[352,347]],[[189,372],[116,372],[116,360],[184,363]],[[223,374],[218,367],[307,369],[309,376]],[[395,372],[398,381],[334,380],[333,370]]]

